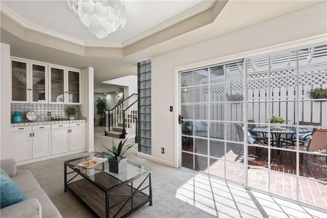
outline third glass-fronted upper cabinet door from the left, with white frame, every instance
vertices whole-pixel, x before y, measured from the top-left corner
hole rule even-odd
[[[64,103],[65,99],[65,69],[49,66],[49,102]]]

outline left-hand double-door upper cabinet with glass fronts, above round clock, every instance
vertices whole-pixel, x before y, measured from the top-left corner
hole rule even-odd
[[[11,58],[12,102],[48,103],[46,64]]]

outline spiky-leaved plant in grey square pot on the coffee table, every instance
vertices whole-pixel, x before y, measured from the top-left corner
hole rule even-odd
[[[125,152],[129,150],[135,142],[132,142],[130,144],[125,145],[127,139],[124,141],[121,140],[118,147],[115,146],[114,141],[112,139],[112,149],[110,150],[106,146],[104,146],[102,143],[102,146],[106,148],[108,151],[110,151],[111,154],[108,156],[108,162],[109,162],[109,171],[114,173],[121,173],[127,168],[127,158],[123,157]]]

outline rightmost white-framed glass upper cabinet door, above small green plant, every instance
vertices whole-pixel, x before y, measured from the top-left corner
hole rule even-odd
[[[68,104],[81,103],[81,74],[78,71],[67,69],[68,84],[67,84],[67,99]]]

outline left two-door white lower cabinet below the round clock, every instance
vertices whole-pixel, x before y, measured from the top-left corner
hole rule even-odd
[[[18,161],[51,155],[51,125],[11,127],[12,157]]]

